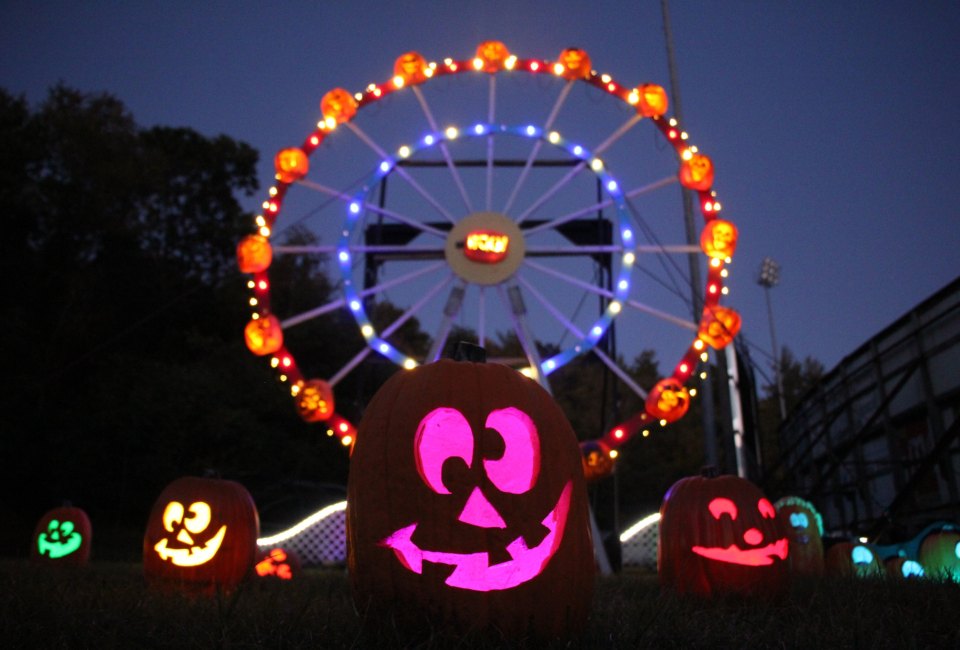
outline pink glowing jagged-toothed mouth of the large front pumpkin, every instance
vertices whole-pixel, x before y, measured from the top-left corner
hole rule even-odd
[[[455,567],[446,579],[446,584],[451,587],[471,591],[511,589],[540,575],[560,547],[572,491],[573,483],[568,481],[556,505],[541,522],[549,532],[539,544],[528,548],[523,538],[517,537],[507,545],[511,559],[493,566],[485,551],[447,553],[420,548],[412,539],[417,524],[400,528],[381,541],[380,545],[392,548],[400,563],[417,574],[423,573],[424,561]]]

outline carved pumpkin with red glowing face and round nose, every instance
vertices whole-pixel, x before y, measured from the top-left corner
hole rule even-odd
[[[760,488],[737,476],[691,476],[660,507],[657,571],[679,593],[780,595],[788,541]]]

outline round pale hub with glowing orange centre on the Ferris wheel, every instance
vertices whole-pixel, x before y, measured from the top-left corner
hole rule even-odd
[[[467,215],[450,230],[444,248],[451,270],[479,285],[496,285],[511,278],[525,253],[520,226],[500,212]]]

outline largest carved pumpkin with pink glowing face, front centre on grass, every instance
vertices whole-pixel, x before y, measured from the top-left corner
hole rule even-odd
[[[531,485],[515,485],[512,493],[497,487],[508,487],[506,475],[494,480],[489,463],[501,455],[514,457],[516,439],[497,435],[504,429],[500,425],[486,427],[491,413],[510,409],[529,415],[536,428],[530,439],[539,441],[539,473]],[[432,448],[425,442],[430,428],[422,425],[437,412],[453,414],[460,426],[438,428],[442,433],[436,439],[443,439],[448,451],[451,441],[472,440],[472,450],[461,445],[459,457],[444,453],[442,462],[422,451]],[[511,479],[532,476],[524,469],[528,465],[516,466],[522,471],[508,473]],[[474,499],[486,500],[498,514],[474,509],[475,516],[465,516]],[[559,511],[561,502],[568,504],[566,515],[559,525],[560,517],[555,518],[554,532],[547,532],[542,522]],[[478,521],[484,513],[499,516],[503,526]],[[406,531],[407,538],[396,541],[397,531]],[[582,629],[590,610],[593,546],[576,437],[549,394],[506,366],[441,360],[398,372],[384,384],[357,431],[347,487],[347,540],[358,610],[393,616],[402,626],[492,628],[506,638],[558,638]],[[488,583],[484,590],[480,583],[492,578],[489,569],[513,562],[501,566],[512,570],[520,563],[507,550],[518,540],[529,548],[550,542],[551,552],[532,576],[517,584]],[[468,554],[482,556],[475,573],[459,565]]]

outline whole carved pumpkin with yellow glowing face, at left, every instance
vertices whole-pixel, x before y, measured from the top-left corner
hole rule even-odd
[[[182,510],[171,508],[172,503]],[[209,507],[209,522],[202,528],[197,503]],[[230,590],[251,573],[259,535],[257,508],[242,485],[179,478],[163,489],[150,511],[143,537],[144,576],[151,585],[190,592]]]

